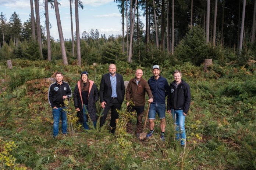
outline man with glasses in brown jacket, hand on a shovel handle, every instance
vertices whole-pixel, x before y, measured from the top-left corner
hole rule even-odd
[[[137,124],[136,124],[136,137],[139,138],[139,134],[142,131],[142,118],[145,108],[145,92],[149,96],[149,102],[153,102],[153,95],[150,90],[149,84],[142,78],[143,71],[141,69],[136,70],[135,78],[132,78],[126,88],[125,97],[128,101],[127,110],[128,112],[137,112]],[[130,106],[129,101],[132,100],[135,106]],[[132,121],[127,123],[127,132],[132,132]]]

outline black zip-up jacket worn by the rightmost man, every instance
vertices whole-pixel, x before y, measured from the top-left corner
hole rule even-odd
[[[191,101],[191,93],[189,85],[181,80],[178,87],[175,87],[175,80],[171,82],[167,97],[167,110],[183,110],[185,114],[188,114]]]

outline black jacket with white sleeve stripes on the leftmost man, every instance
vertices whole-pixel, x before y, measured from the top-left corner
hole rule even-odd
[[[62,81],[62,84],[58,84],[57,81],[49,86],[48,90],[48,101],[52,108],[64,106],[63,96],[72,96],[70,85]]]

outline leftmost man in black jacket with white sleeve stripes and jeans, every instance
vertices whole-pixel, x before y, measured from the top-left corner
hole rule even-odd
[[[48,90],[48,101],[53,108],[53,138],[58,135],[58,125],[61,117],[61,130],[67,135],[67,112],[64,110],[64,100],[72,96],[69,84],[63,81],[63,74],[55,74],[56,82],[50,85]]]

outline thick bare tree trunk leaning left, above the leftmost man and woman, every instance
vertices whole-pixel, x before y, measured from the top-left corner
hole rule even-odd
[[[66,54],[66,50],[65,50],[64,37],[63,37],[63,32],[62,32],[62,27],[61,27],[60,12],[58,10],[58,1],[57,0],[54,0],[54,8],[55,8],[55,15],[56,15],[57,26],[58,26],[58,33],[59,33],[59,37],[60,37],[62,60],[63,60],[64,65],[68,65],[68,59],[67,59],[67,54]]]

